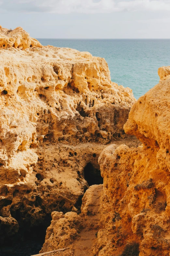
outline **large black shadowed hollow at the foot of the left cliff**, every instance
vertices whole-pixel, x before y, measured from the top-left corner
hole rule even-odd
[[[36,196],[35,206],[32,205],[33,209],[29,209],[28,205],[23,203],[11,206],[10,213],[17,220],[19,230],[9,234],[9,226],[4,225],[3,230],[0,229],[1,256],[30,256],[39,253],[45,241],[47,227],[51,222],[50,213],[46,213],[44,216],[41,214],[45,213],[41,204],[41,197]],[[13,223],[15,230],[15,222]]]

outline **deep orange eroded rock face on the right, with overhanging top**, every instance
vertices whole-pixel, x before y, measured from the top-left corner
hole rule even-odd
[[[161,81],[130,111],[125,132],[142,145],[110,145],[99,157],[104,178],[101,222],[108,230],[106,246],[95,247],[100,256],[119,255],[133,242],[140,246],[139,256],[169,256],[169,88],[170,79]]]

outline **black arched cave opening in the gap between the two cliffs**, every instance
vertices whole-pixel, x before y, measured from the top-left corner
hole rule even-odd
[[[103,184],[103,178],[99,169],[94,168],[91,162],[84,167],[84,179],[89,186]]]

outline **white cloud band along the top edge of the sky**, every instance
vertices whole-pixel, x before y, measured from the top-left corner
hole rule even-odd
[[[112,13],[169,11],[170,0],[1,0],[0,11],[50,13]]]

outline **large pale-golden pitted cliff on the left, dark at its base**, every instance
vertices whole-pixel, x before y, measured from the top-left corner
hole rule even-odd
[[[49,223],[52,211],[80,208],[84,167],[99,170],[105,145],[125,137],[135,98],[111,82],[104,59],[42,46],[21,27],[0,28],[0,60],[3,243],[18,223],[31,230]]]

